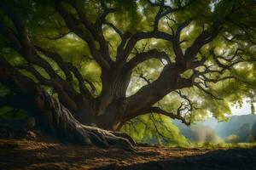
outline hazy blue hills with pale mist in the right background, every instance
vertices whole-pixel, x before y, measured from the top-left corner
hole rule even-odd
[[[256,122],[256,115],[250,114],[230,116],[227,122],[218,122],[211,117],[190,127],[177,120],[172,123],[179,128],[183,136],[191,141],[218,143],[232,135],[240,137],[240,142],[245,142],[244,140],[247,140],[251,133],[254,122]]]

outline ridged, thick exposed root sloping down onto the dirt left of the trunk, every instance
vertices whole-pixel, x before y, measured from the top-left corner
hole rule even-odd
[[[98,127],[85,126],[78,122],[70,111],[44,90],[38,90],[36,105],[44,118],[44,126],[62,139],[74,144],[90,144],[100,147],[117,146],[134,150],[135,142],[124,133],[108,132]],[[117,134],[117,136],[115,136]]]

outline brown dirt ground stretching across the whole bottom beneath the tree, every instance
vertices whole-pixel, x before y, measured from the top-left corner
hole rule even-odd
[[[137,147],[121,149],[0,139],[0,169],[256,169],[256,148],[205,150]]]

